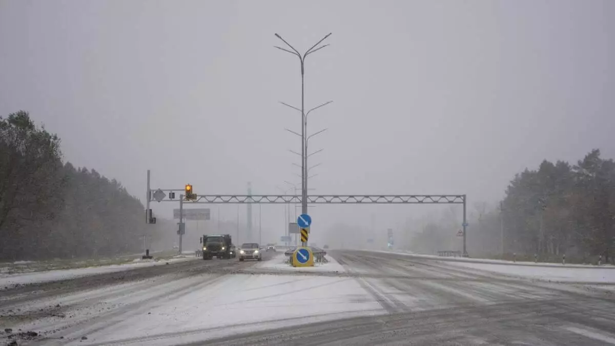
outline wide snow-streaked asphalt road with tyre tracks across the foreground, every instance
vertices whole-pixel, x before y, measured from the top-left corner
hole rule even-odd
[[[330,260],[191,260],[26,284],[0,290],[1,327],[50,345],[615,344],[613,291],[595,283],[380,252]]]

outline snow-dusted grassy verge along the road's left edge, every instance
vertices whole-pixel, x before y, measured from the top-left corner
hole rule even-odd
[[[0,289],[14,286],[17,284],[43,283],[48,281],[68,280],[82,276],[97,275],[101,273],[122,272],[141,267],[151,267],[154,265],[165,265],[173,262],[183,262],[194,260],[194,254],[175,255],[170,258],[159,258],[151,260],[134,259],[133,262],[119,265],[101,265],[97,267],[73,268],[48,270],[44,272],[20,273],[20,274],[0,274]]]

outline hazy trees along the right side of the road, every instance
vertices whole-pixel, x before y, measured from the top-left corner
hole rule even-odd
[[[504,199],[469,206],[470,255],[614,262],[615,163],[592,150],[576,164],[544,160],[516,174]],[[455,214],[455,215],[453,215]],[[459,212],[445,212],[407,241],[417,251],[459,249]]]

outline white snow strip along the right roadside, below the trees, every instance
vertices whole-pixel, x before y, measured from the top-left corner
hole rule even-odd
[[[445,262],[442,262],[445,263]],[[559,281],[568,283],[614,283],[615,270],[603,267],[572,267],[572,266],[531,266],[516,264],[488,264],[469,262],[446,262],[455,267],[486,270],[504,275],[520,276],[544,281]]]

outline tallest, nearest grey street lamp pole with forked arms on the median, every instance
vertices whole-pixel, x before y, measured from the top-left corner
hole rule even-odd
[[[314,46],[312,46],[303,55],[301,55],[298,52],[298,50],[296,50],[295,47],[291,46],[287,41],[285,41],[282,38],[282,36],[280,36],[279,34],[276,34],[276,37],[282,40],[282,42],[284,42],[292,50],[288,50],[288,49],[278,47],[278,46],[275,46],[275,47],[277,49],[284,50],[285,52],[288,52],[290,54],[296,55],[299,58],[299,61],[301,63],[301,166],[302,166],[301,167],[301,212],[303,214],[306,214],[308,212],[308,190],[307,190],[308,180],[306,179],[306,176],[308,175],[307,170],[306,170],[308,166],[308,156],[306,155],[306,126],[308,125],[308,121],[307,121],[307,117],[305,113],[305,98],[304,98],[305,96],[305,86],[304,86],[305,66],[304,66],[304,62],[305,62],[306,57],[308,57],[309,54],[314,53],[315,51],[323,49],[324,47],[328,46],[328,44],[324,44],[323,46],[316,47],[320,44],[320,42],[324,41],[330,35],[331,33],[327,34],[327,36],[320,39],[320,41],[316,42]],[[306,244],[303,244],[303,246],[306,246]]]

